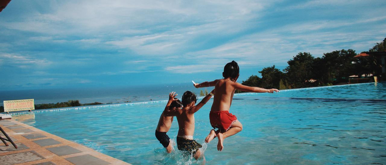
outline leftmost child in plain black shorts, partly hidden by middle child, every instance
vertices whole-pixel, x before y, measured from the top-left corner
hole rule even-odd
[[[169,93],[169,101],[166,104],[166,107],[164,111],[161,114],[161,117],[159,117],[157,129],[156,129],[156,138],[159,140],[159,143],[161,143],[165,148],[166,152],[171,153],[173,151],[173,145],[170,143],[170,138],[166,133],[170,130],[171,123],[173,122],[173,116],[165,116],[165,111],[170,110],[176,110],[182,107],[181,101],[179,99],[176,99],[174,97],[177,96],[174,95],[175,92]]]

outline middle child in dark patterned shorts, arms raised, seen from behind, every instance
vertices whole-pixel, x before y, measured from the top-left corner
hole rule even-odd
[[[194,93],[186,91],[182,96],[182,109],[167,110],[164,114],[166,116],[176,116],[178,121],[178,135],[177,135],[177,147],[178,150],[187,151],[193,155],[197,160],[201,157],[201,152],[198,148],[202,146],[193,140],[193,134],[195,129],[194,113],[196,113],[205,103],[212,97],[214,90],[205,96],[196,106],[197,97]],[[203,156],[202,156],[203,157]]]

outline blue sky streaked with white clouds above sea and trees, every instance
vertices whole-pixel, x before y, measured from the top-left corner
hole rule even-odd
[[[0,13],[0,90],[135,86],[283,69],[298,52],[367,51],[384,0],[12,0]]]

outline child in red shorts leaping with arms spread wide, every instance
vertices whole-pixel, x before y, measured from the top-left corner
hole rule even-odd
[[[210,130],[209,135],[205,138],[205,142],[209,143],[217,136],[218,151],[223,150],[223,140],[225,138],[235,135],[242,130],[242,124],[240,121],[237,120],[235,115],[229,113],[230,105],[232,104],[233,95],[236,89],[254,93],[279,92],[278,89],[264,89],[236,83],[239,75],[239,65],[237,62],[232,61],[225,65],[224,72],[222,72],[222,76],[224,77],[223,79],[194,84],[196,88],[215,86],[216,95],[213,98],[212,108],[209,113],[209,120],[210,125],[212,125],[214,129],[217,128],[218,130]]]

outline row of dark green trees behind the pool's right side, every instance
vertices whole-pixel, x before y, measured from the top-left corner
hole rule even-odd
[[[376,43],[367,52],[386,51],[386,38]],[[363,74],[381,75],[381,61],[374,56],[354,57],[357,53],[352,50],[340,50],[324,53],[322,57],[313,57],[309,52],[300,52],[289,60],[283,71],[275,65],[265,67],[259,73],[261,77],[252,75],[242,81],[243,85],[261,88],[293,89],[315,86],[330,86],[347,83],[349,76]],[[386,75],[381,75],[385,77]],[[241,91],[236,91],[240,93]]]

